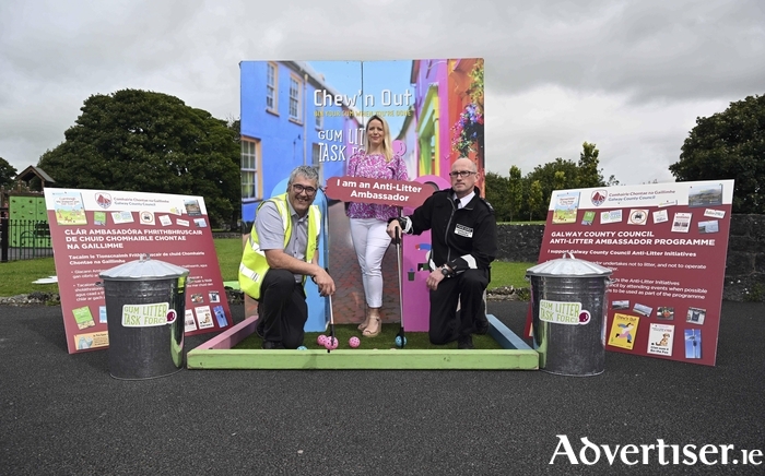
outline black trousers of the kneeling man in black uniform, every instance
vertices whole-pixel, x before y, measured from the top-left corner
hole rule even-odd
[[[431,291],[431,343],[457,341],[475,331],[474,324],[486,319],[483,291],[489,286],[489,270],[468,270],[438,283]],[[459,317],[457,302],[460,302]]]

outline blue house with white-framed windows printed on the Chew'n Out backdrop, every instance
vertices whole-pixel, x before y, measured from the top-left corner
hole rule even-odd
[[[242,219],[248,229],[255,210],[298,165],[319,169],[320,182],[345,174],[361,146],[361,118],[302,61],[243,61]],[[361,90],[361,76],[358,78]]]

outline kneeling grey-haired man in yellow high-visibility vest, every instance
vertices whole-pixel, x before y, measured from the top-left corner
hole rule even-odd
[[[303,345],[308,319],[306,276],[321,296],[334,294],[334,281],[319,266],[316,252],[321,233],[321,211],[313,204],[318,181],[314,167],[295,168],[286,193],[258,206],[242,255],[239,286],[258,300],[258,331],[266,349]]]

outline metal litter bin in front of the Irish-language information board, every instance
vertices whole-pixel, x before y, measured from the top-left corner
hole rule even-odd
[[[184,364],[184,313],[189,271],[148,254],[102,272],[116,379],[164,377]]]

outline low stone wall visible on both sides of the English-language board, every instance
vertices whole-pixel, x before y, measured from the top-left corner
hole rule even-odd
[[[499,261],[537,262],[544,225],[499,225]],[[722,299],[765,300],[765,215],[731,215]]]

